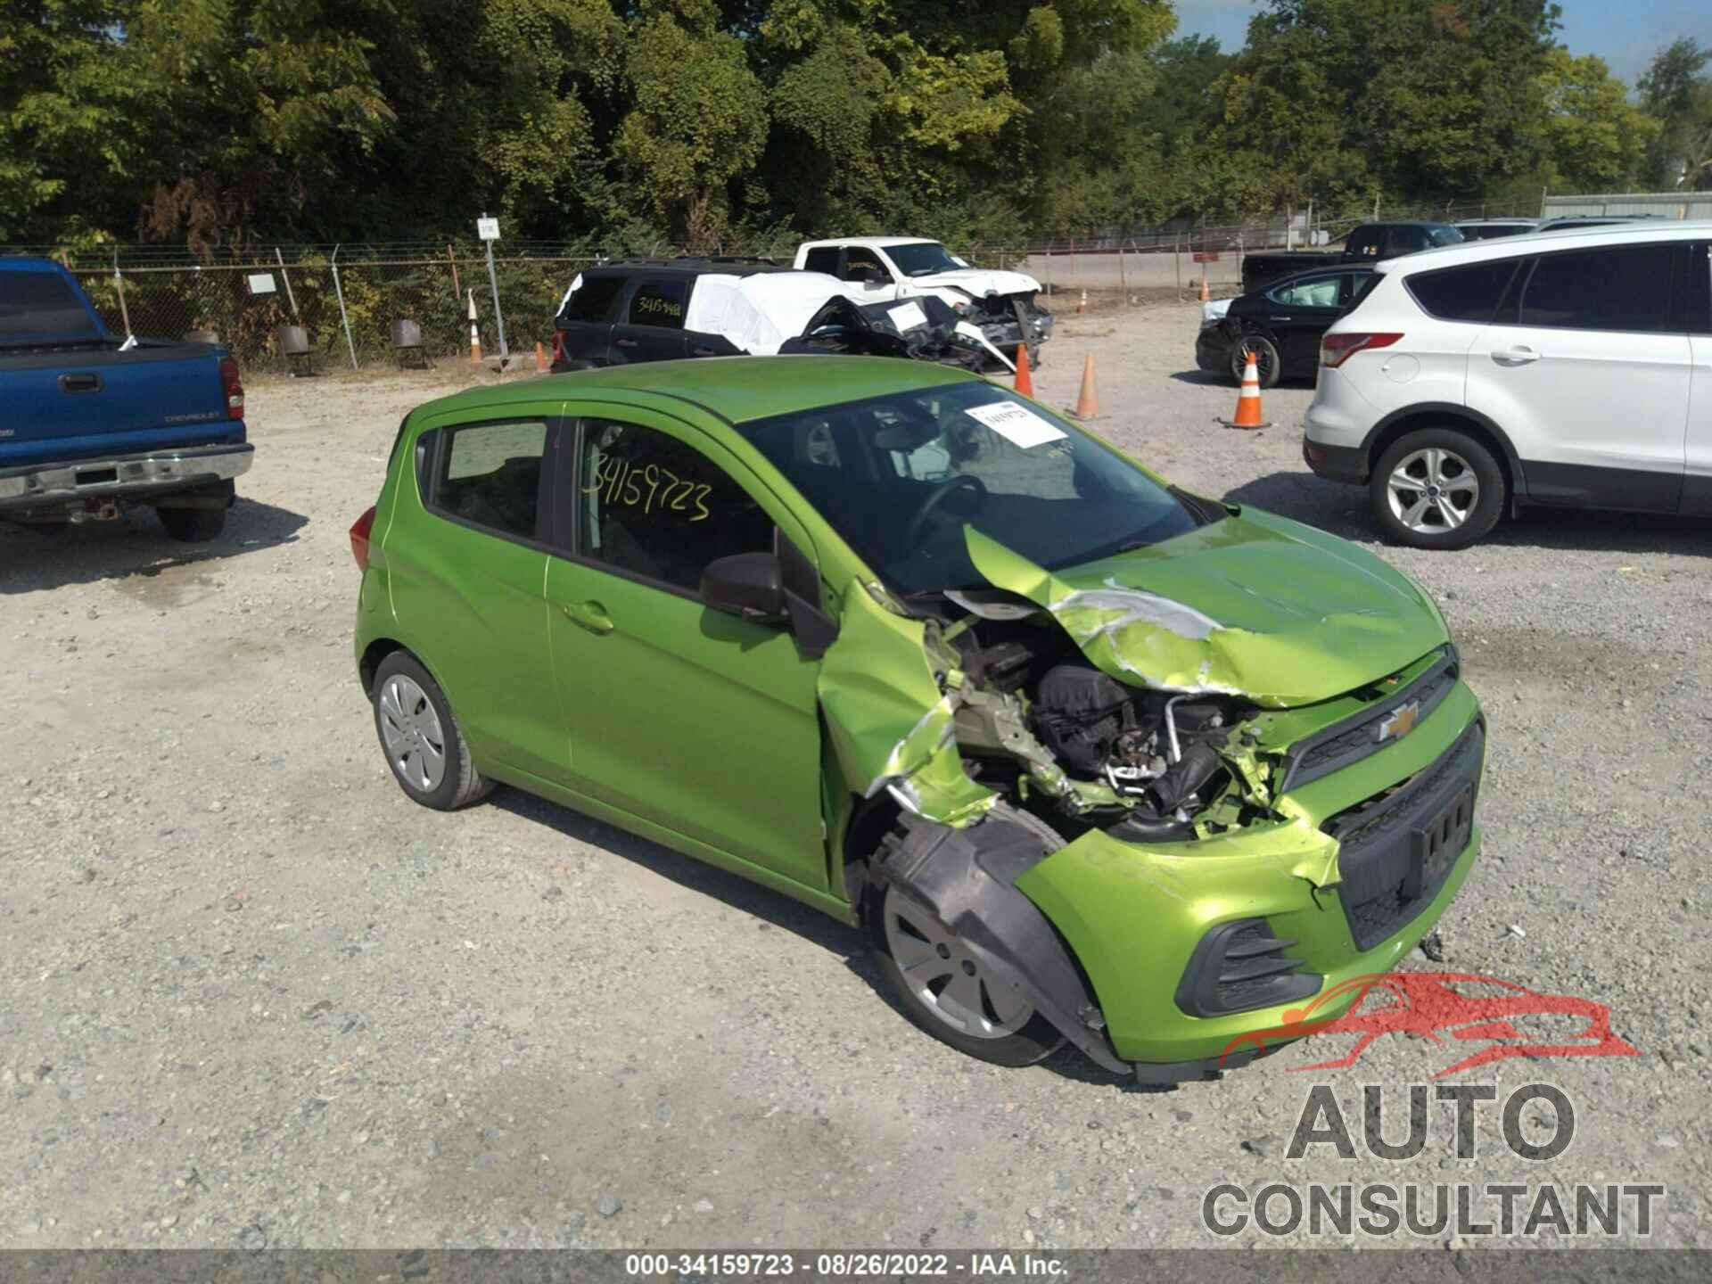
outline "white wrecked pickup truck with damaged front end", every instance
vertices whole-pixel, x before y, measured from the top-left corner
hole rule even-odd
[[[1041,344],[1053,336],[1053,313],[1039,305],[1041,282],[1032,276],[971,267],[919,236],[803,241],[794,267],[837,277],[861,303],[943,300],[1012,360],[1027,344],[1031,365],[1041,363]]]

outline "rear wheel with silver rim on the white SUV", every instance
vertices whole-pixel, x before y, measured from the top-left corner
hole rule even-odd
[[[1430,464],[1421,459],[1424,452],[1435,450],[1443,452],[1436,479],[1443,490],[1436,493],[1433,491],[1435,479],[1426,473]],[[1399,469],[1409,476],[1418,473],[1421,476],[1419,502],[1426,502],[1428,510],[1416,526],[1404,520],[1414,510],[1414,502],[1409,496],[1416,491],[1394,491],[1392,486],[1392,474],[1402,474]],[[1464,478],[1472,478],[1476,486],[1472,502],[1467,505],[1459,503],[1459,495],[1465,495],[1465,490],[1459,490]],[[1397,507],[1394,507],[1394,495]],[[1467,548],[1486,538],[1503,517],[1505,505],[1510,502],[1510,486],[1498,459],[1477,438],[1460,428],[1419,428],[1399,437],[1375,461],[1373,476],[1368,478],[1368,500],[1380,531],[1392,543],[1411,548],[1453,550]],[[1402,507],[1404,503],[1409,507]],[[1399,508],[1402,510],[1399,512]],[[1442,515],[1443,508],[1459,512],[1460,522],[1447,520]]]

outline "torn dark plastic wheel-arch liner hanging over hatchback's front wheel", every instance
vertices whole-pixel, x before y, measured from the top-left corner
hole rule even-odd
[[[1015,880],[1046,858],[1041,837],[1003,815],[971,829],[912,820],[877,873],[957,933],[990,984],[1007,984],[1070,1043],[1116,1073],[1106,1020],[1046,914]]]

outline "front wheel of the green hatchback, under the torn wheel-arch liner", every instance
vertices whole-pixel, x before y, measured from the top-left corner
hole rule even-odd
[[[1063,839],[1046,822],[1003,803],[993,820],[1041,835],[1046,851]],[[895,842],[887,837],[882,849]],[[868,921],[880,971],[906,1015],[940,1043],[995,1065],[1034,1065],[1063,1046],[1063,1034],[981,964],[955,930],[890,883],[873,883]]]

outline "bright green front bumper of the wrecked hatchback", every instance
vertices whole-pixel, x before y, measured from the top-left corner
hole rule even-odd
[[[1435,882],[1387,919],[1370,897],[1383,880],[1376,863],[1388,856],[1370,856],[1366,835],[1359,859],[1354,846],[1346,854],[1327,827],[1339,829],[1395,784],[1419,781],[1431,796],[1394,817],[1399,834],[1412,834],[1443,815],[1447,781],[1435,769],[1447,762],[1467,777],[1457,788],[1467,788],[1472,806],[1484,745],[1471,752],[1467,736],[1477,726],[1474,695],[1457,683],[1412,733],[1284,794],[1279,808],[1291,822],[1157,846],[1091,830],[1022,875],[1017,889],[1046,912],[1087,972],[1118,1058],[1133,1063],[1142,1082],[1178,1082],[1272,1049],[1255,1036],[1291,1022],[1286,1012],[1306,1002],[1301,988],[1260,1008],[1185,1010],[1198,1007],[1197,950],[1205,955],[1209,936],[1234,923],[1263,924],[1253,930],[1277,938],[1279,957],[1296,964],[1294,976],[1308,978],[1311,993],[1392,971],[1457,895],[1479,853],[1479,829],[1469,817],[1455,835],[1459,849],[1433,853]],[[1455,760],[1457,753],[1465,757]],[[1450,798],[1457,801],[1455,793]],[[1347,827],[1340,832],[1351,837]],[[1354,993],[1317,1017],[1337,1017],[1351,1002]]]

